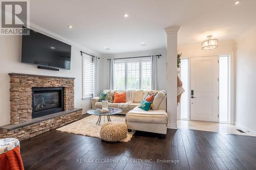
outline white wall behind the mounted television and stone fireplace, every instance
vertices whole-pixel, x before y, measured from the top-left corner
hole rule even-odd
[[[36,30],[36,29],[34,29]],[[36,30],[40,32],[39,30]],[[45,32],[46,30],[44,30]],[[50,32],[48,32],[50,34]],[[52,33],[53,35],[54,33]],[[49,36],[49,35],[48,35]],[[10,124],[10,78],[8,73],[17,72],[23,74],[34,75],[49,75],[49,76],[62,76],[62,77],[74,77],[75,78],[75,107],[89,109],[91,108],[91,102],[82,101],[82,64],[80,51],[86,51],[87,53],[99,55],[87,48],[81,47],[77,44],[73,44],[71,41],[63,40],[64,38],[57,37],[63,42],[72,45],[71,53],[71,69],[60,71],[51,71],[38,69],[35,65],[29,65],[20,63],[22,52],[22,37],[21,36],[0,36],[0,126]],[[53,37],[52,36],[52,37]]]

